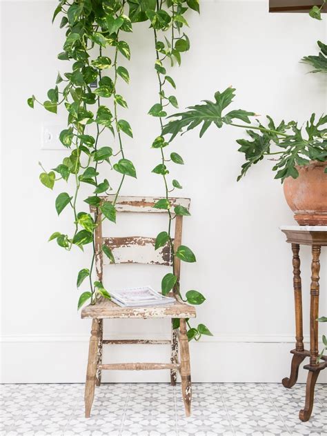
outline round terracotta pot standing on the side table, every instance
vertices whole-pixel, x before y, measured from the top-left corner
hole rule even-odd
[[[284,180],[284,195],[288,206],[295,213],[298,224],[327,225],[327,162],[311,161],[297,166],[299,177]]]

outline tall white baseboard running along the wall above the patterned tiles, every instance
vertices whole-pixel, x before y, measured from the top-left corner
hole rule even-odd
[[[159,338],[159,335],[151,335]],[[143,335],[144,337],[144,335]],[[1,337],[1,383],[80,383],[85,380],[86,336]],[[123,339],[121,337],[121,339]],[[308,342],[308,337],[304,338]],[[308,344],[306,344],[308,347]],[[289,375],[294,339],[281,336],[204,337],[190,343],[193,381],[279,383]],[[155,356],[155,358],[154,358]],[[168,361],[169,346],[105,346],[103,361]],[[299,382],[306,381],[300,370]],[[103,381],[168,381],[167,371],[104,371]],[[327,383],[327,370],[319,383]]]

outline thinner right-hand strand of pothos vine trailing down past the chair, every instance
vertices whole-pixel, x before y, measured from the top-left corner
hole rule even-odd
[[[164,3],[167,10],[164,9]],[[193,10],[199,12],[199,5],[197,1],[187,1],[187,5]],[[152,170],[153,173],[161,175],[164,182],[165,196],[155,204],[155,208],[165,209],[168,211],[168,230],[160,232],[157,235],[155,241],[155,249],[170,244],[172,257],[179,257],[182,261],[195,262],[196,257],[188,246],[179,246],[177,250],[174,248],[172,241],[171,228],[172,220],[176,215],[190,215],[190,212],[184,206],[175,206],[174,211],[171,210],[169,201],[170,192],[175,189],[181,189],[177,179],[168,180],[170,170],[167,168],[167,164],[171,161],[177,165],[183,165],[184,160],[177,152],[170,153],[170,159],[166,156],[166,147],[169,145],[165,141],[163,136],[164,122],[166,117],[166,107],[172,106],[178,108],[177,98],[175,95],[170,95],[171,88],[176,88],[175,81],[172,77],[167,75],[166,65],[164,63],[170,61],[170,66],[175,63],[181,64],[181,53],[186,52],[190,48],[190,41],[187,35],[182,31],[185,26],[188,26],[185,12],[188,8],[185,2],[182,0],[157,0],[154,3],[155,8],[153,10],[146,11],[148,19],[151,21],[151,28],[153,31],[154,43],[155,43],[155,72],[157,75],[158,83],[158,101],[149,110],[148,114],[152,117],[157,117],[159,120],[159,136],[157,136],[152,142],[152,148],[159,150],[160,162]],[[165,32],[170,32],[170,38],[165,36]],[[179,279],[175,275],[174,264],[172,266],[172,273],[168,273],[161,281],[161,292],[167,295],[171,290],[174,290],[181,299],[181,289]],[[202,304],[205,301],[204,295],[197,290],[188,290],[186,292],[186,299],[190,304]],[[201,335],[211,335],[210,330],[204,325],[199,324],[197,328],[190,326],[190,321],[186,320],[188,325],[188,339],[199,340]],[[179,327],[179,319],[173,320],[173,327]]]

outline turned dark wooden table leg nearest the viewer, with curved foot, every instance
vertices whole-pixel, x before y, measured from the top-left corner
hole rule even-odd
[[[311,286],[310,286],[310,365],[308,379],[306,381],[306,404],[303,410],[300,410],[299,419],[308,421],[313,411],[313,400],[315,395],[315,384],[320,373],[317,357],[318,349],[318,321],[319,314],[319,256],[321,246],[313,245],[313,261],[311,263]]]

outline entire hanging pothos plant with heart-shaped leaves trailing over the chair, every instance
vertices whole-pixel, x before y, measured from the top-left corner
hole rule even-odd
[[[128,104],[119,94],[119,80],[129,82],[128,70],[119,65],[121,57],[130,59],[130,47],[124,41],[124,34],[132,32],[133,23],[149,21],[150,31],[154,41],[155,72],[158,79],[159,100],[149,110],[149,115],[159,120],[159,136],[152,143],[152,148],[159,150],[160,163],[152,172],[163,177],[165,199],[155,204],[155,208],[168,210],[168,231],[160,232],[155,242],[155,248],[170,244],[172,254],[186,262],[195,262],[195,255],[186,246],[180,246],[176,251],[170,235],[172,219],[175,215],[190,215],[182,206],[170,210],[169,193],[173,189],[180,189],[179,181],[168,181],[168,168],[166,163],[184,164],[183,159],[176,152],[170,153],[166,158],[165,148],[169,145],[162,135],[162,118],[166,117],[166,106],[177,108],[177,99],[166,90],[166,86],[175,88],[175,81],[166,75],[164,61],[170,65],[181,63],[181,53],[190,48],[190,41],[184,28],[188,23],[184,17],[189,10],[199,12],[198,0],[61,0],[54,10],[53,19],[61,15],[60,28],[66,30],[66,40],[63,51],[58,54],[58,59],[71,61],[71,70],[59,73],[54,88],[48,90],[48,99],[39,101],[34,95],[28,99],[28,105],[34,108],[39,103],[46,110],[57,113],[57,108],[65,108],[68,121],[67,128],[60,133],[63,147],[71,150],[55,168],[45,170],[42,166],[41,183],[47,188],[54,188],[54,184],[75,181],[74,192],[61,192],[55,201],[58,215],[64,208],[72,210],[74,230],[72,235],[54,232],[50,241],[56,240],[64,250],[72,250],[77,246],[91,244],[93,248],[89,268],[83,268],[77,276],[77,288],[85,279],[90,282],[90,290],[81,293],[78,308],[86,301],[95,304],[98,295],[110,299],[110,292],[99,281],[94,281],[95,266],[95,228],[99,224],[99,211],[103,218],[116,222],[115,204],[123,181],[127,177],[137,177],[135,166],[126,157],[123,148],[124,135],[132,137],[132,128],[125,117],[121,117],[121,110],[126,110]],[[159,38],[160,34],[160,38]],[[167,35],[167,36],[166,36]],[[161,38],[162,37],[162,38]],[[162,39],[162,40],[161,40]],[[96,53],[96,54],[95,54]],[[95,84],[95,88],[91,87]],[[86,126],[95,128],[95,134],[86,132]],[[115,145],[104,146],[101,135],[106,130],[112,133],[112,143]],[[115,188],[113,201],[102,201],[99,195],[108,194],[113,190],[109,177],[99,177],[99,166],[106,166],[106,172],[119,172],[121,179]],[[40,164],[41,165],[41,164]],[[77,210],[81,184],[88,184],[92,192],[83,199],[88,206],[95,208],[95,216],[89,212]],[[170,186],[171,184],[171,186]],[[110,248],[103,246],[104,254],[112,263],[115,259]],[[162,280],[162,293],[168,293],[175,288],[179,295],[177,277],[172,273],[165,275]],[[196,290],[186,293],[186,300],[190,304],[201,304],[205,297]],[[175,327],[178,320],[175,321]],[[204,324],[192,328],[188,324],[188,338],[199,339],[201,335],[211,335]]]

